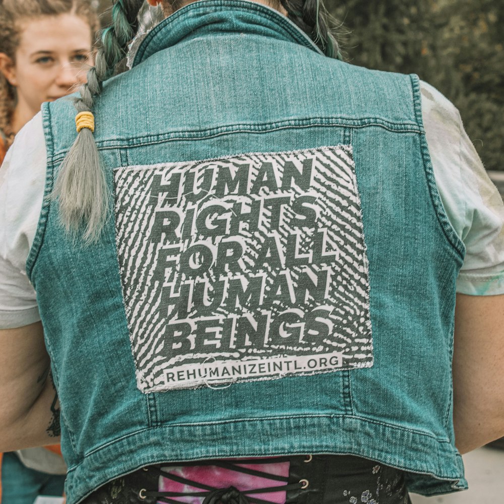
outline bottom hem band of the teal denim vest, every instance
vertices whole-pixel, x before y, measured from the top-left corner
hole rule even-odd
[[[151,464],[306,454],[356,455],[398,468],[407,473],[409,491],[424,495],[467,488],[461,456],[432,434],[349,416],[250,420],[228,422],[225,437],[221,427],[200,423],[150,427],[113,440],[69,468],[67,504]],[[160,445],[159,439],[169,441]],[[398,455],[391,443],[405,452]]]

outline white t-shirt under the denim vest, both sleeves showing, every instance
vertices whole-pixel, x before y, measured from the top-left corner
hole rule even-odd
[[[464,131],[458,110],[421,83],[434,176],[448,218],[466,246],[457,292],[504,294],[504,206]],[[18,133],[0,169],[0,329],[40,320],[25,264],[45,185],[41,114]]]

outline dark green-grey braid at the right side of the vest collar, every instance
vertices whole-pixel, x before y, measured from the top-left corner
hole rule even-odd
[[[326,56],[340,58],[338,42],[328,24],[323,0],[280,0],[289,19],[304,31]]]

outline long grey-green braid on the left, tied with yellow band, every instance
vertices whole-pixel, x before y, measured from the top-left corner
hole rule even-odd
[[[96,66],[87,75],[77,112],[91,112],[102,83],[114,75],[138,30],[138,13],[143,0],[116,0],[112,7],[112,25],[102,31]],[[67,231],[85,225],[86,242],[97,241],[108,216],[109,192],[93,133],[83,128],[68,151],[56,179],[51,199],[59,200],[59,214]]]

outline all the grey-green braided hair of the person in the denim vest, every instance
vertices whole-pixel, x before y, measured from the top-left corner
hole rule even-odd
[[[289,19],[303,30],[329,57],[340,57],[338,44],[331,34],[323,0],[272,0],[283,6]],[[163,2],[165,15],[191,3],[191,0]],[[112,75],[127,54],[128,44],[138,30],[138,15],[142,0],[114,0],[112,25],[102,32],[102,47],[96,55],[96,67],[88,72],[88,82],[75,100],[78,112],[90,112],[102,83]],[[93,133],[80,130],[68,151],[51,195],[59,198],[61,222],[68,231],[85,225],[83,239],[94,242],[100,237],[108,217],[109,194]]]

